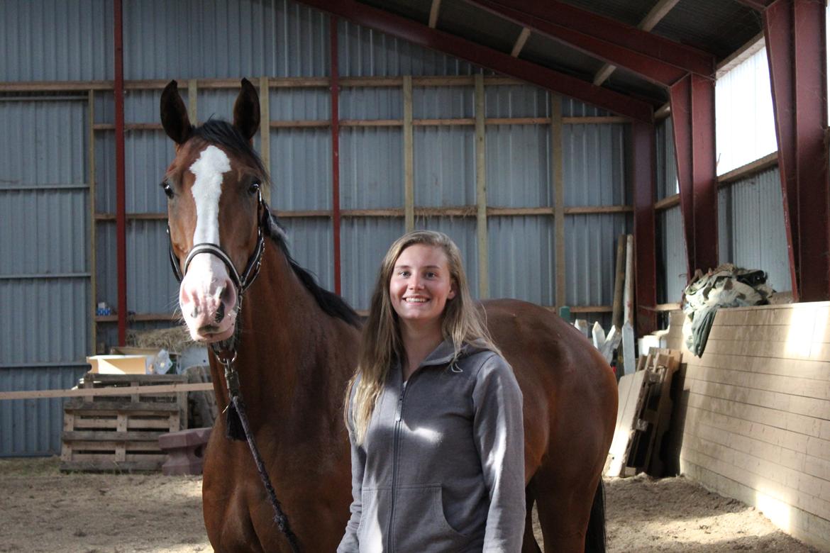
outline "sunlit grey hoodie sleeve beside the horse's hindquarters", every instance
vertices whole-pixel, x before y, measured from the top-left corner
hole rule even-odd
[[[525,532],[522,395],[503,357],[488,357],[473,388],[473,437],[490,495],[483,551],[521,551]]]

